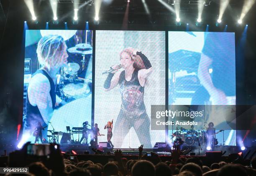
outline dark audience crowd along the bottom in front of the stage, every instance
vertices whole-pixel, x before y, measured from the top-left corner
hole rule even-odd
[[[172,150],[170,161],[161,161],[156,153],[143,155],[141,145],[137,160],[128,160],[121,150],[117,150],[115,160],[109,157],[107,163],[79,161],[80,157],[74,154],[63,154],[61,150],[54,149],[47,160],[41,158],[36,161],[26,158],[25,148],[10,153],[8,163],[1,163],[1,167],[26,166],[29,173],[23,175],[28,176],[256,176],[256,157],[251,160],[251,166],[244,166],[244,162],[238,159],[231,163],[212,163],[208,167],[196,156],[180,156],[179,150]],[[11,176],[12,173],[6,175]]]

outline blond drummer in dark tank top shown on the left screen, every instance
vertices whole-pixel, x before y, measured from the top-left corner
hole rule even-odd
[[[67,65],[66,50],[64,39],[59,35],[44,36],[38,42],[36,53],[42,67],[33,74],[28,84],[25,133],[35,129],[38,122],[46,126],[54,109],[61,103],[55,92],[56,74],[60,67]],[[47,129],[45,131],[47,133]]]

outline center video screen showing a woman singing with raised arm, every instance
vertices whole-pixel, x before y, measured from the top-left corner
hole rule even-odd
[[[98,142],[111,141],[114,148],[165,142],[165,131],[150,126],[151,105],[165,105],[165,32],[95,35],[94,122],[105,135]]]

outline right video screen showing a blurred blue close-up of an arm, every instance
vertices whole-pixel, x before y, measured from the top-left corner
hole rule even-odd
[[[169,31],[168,35],[169,105],[236,105],[235,33]],[[213,122],[216,130],[225,129],[224,135],[216,134],[219,143],[236,145],[235,130],[228,130],[225,118],[208,114],[194,119],[202,124],[195,130],[206,130]]]

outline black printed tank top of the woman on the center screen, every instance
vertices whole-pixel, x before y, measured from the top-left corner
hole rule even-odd
[[[125,79],[125,71],[119,77],[120,94],[122,99],[121,110],[128,113],[128,116],[139,117],[146,113],[144,105],[144,87],[138,81],[138,69],[133,71],[130,81]]]

